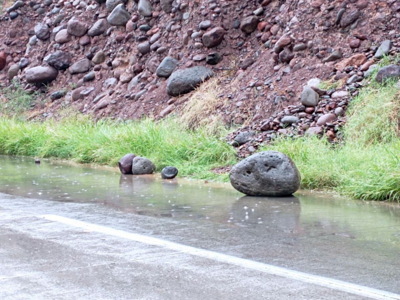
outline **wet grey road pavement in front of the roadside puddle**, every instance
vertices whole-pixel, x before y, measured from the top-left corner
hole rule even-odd
[[[353,238],[331,235],[317,241],[310,238],[301,245],[294,245],[297,242],[292,240],[290,245],[285,238],[266,234],[251,245],[243,233],[238,230],[233,238],[234,232],[212,223],[201,225],[196,221],[126,214],[96,204],[0,194],[0,298],[400,298],[384,291],[397,291],[397,271],[390,273],[387,265],[373,270],[379,262],[376,260],[364,262],[368,271],[352,269],[357,263],[349,263],[352,253],[348,253],[348,262],[341,261],[343,249],[339,247],[346,243],[340,240]],[[155,239],[146,240],[146,236]],[[301,247],[310,253],[302,257]],[[274,253],[279,248],[280,253]],[[196,253],[200,249],[207,251]],[[334,259],[318,262],[318,252],[326,250],[338,255],[336,264],[341,267],[332,265]],[[221,257],[221,253],[226,256]],[[287,264],[282,263],[285,259]],[[362,259],[368,257],[359,257],[359,261]],[[275,269],[268,268],[267,263],[274,261],[283,273],[276,275]],[[293,274],[292,269],[302,273]],[[385,278],[376,284],[379,280],[375,276],[382,273]],[[329,278],[342,281],[332,284]],[[347,281],[362,286],[347,286]]]

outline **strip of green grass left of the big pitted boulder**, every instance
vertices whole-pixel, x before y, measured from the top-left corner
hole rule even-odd
[[[213,167],[235,163],[235,151],[204,128],[187,130],[174,119],[115,122],[68,117],[26,122],[0,117],[0,153],[117,165],[126,153],[151,159],[157,170],[174,165],[180,176],[227,180]]]

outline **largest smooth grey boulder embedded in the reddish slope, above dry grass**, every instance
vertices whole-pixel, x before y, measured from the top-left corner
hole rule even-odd
[[[213,75],[213,71],[205,66],[192,66],[174,71],[168,79],[166,92],[173,97],[188,93]]]

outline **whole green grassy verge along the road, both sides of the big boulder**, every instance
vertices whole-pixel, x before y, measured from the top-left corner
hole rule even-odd
[[[261,150],[290,156],[300,171],[302,188],[400,202],[399,120],[396,81],[371,80],[351,101],[343,143],[333,146],[324,138],[301,136],[276,139]],[[174,165],[180,176],[226,181],[227,174],[210,169],[234,164],[235,150],[224,140],[223,129],[211,132],[206,127],[187,129],[179,118],[94,122],[72,116],[28,122],[2,116],[0,153],[117,165],[121,156],[132,152],[151,159],[158,171]]]

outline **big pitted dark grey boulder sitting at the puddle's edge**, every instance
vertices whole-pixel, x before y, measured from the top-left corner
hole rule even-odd
[[[287,196],[300,186],[300,174],[293,161],[277,151],[255,153],[230,170],[230,183],[250,196]]]

